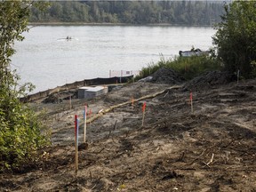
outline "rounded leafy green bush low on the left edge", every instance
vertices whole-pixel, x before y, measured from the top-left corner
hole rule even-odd
[[[38,148],[50,144],[49,131],[25,104],[0,92],[0,171],[32,160]]]

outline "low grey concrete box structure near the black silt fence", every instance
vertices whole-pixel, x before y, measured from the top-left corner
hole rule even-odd
[[[78,89],[78,99],[91,99],[108,92],[108,86],[84,86]]]

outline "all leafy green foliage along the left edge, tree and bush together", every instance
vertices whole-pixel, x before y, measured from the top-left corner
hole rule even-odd
[[[42,124],[20,103],[31,86],[20,86],[20,77],[10,66],[13,44],[22,41],[22,32],[28,31],[30,5],[29,1],[0,1],[0,171],[31,157],[46,144]]]

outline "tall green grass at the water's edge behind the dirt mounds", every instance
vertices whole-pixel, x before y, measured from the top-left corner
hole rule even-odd
[[[220,70],[220,62],[208,56],[194,57],[174,57],[170,60],[164,60],[161,57],[157,63],[149,63],[147,68],[142,68],[140,75],[135,77],[135,81],[146,76],[150,76],[159,68],[172,68],[186,80],[200,76],[206,71]]]

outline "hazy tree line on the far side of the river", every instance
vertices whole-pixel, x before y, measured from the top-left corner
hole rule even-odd
[[[31,8],[30,22],[204,25],[220,22],[214,1],[55,1],[44,12]]]

